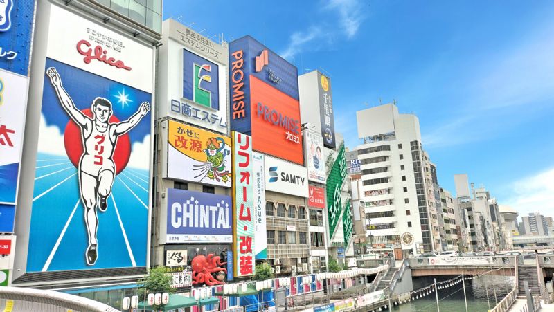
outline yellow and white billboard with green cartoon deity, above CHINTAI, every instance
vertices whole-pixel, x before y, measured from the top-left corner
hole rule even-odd
[[[166,178],[231,187],[231,138],[168,120]]]

